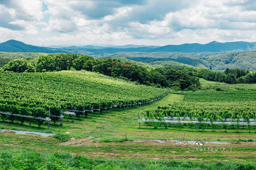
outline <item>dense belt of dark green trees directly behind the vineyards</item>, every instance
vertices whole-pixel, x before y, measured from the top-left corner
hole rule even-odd
[[[155,87],[169,87],[175,90],[199,88],[199,78],[210,81],[235,83],[256,83],[256,74],[247,70],[226,69],[224,73],[196,67],[158,67],[156,69],[137,65],[117,58],[94,59],[88,55],[42,54],[37,59],[15,59],[1,69],[13,72],[46,72],[61,70],[87,70],[101,73],[137,84]]]

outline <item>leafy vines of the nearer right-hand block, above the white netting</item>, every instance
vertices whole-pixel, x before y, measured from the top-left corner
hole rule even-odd
[[[256,118],[256,102],[177,102],[169,104],[166,107],[158,107],[156,110],[148,110],[145,112],[145,117],[148,119],[161,120],[164,116],[197,118],[198,121],[213,122],[218,119],[224,122],[230,118],[231,121],[240,122],[240,118],[250,119]],[[236,120],[235,120],[236,119]]]

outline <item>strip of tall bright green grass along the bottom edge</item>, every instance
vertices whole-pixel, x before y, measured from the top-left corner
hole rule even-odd
[[[39,152],[24,149],[0,149],[0,169],[2,170],[172,170],[172,169],[218,169],[251,170],[255,162],[231,161],[175,161],[175,160],[111,160],[89,159],[83,155],[63,152]]]

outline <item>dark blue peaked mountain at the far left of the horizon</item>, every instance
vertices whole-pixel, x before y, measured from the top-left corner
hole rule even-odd
[[[9,40],[0,44],[1,52],[43,52],[43,53],[67,53],[67,51],[28,45],[20,41]]]

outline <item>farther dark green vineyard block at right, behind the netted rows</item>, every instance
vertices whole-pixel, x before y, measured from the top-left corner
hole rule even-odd
[[[199,91],[188,92],[184,101],[201,102],[234,102],[234,101],[255,101],[256,91],[236,90],[236,91]]]

